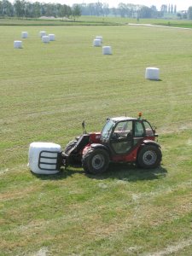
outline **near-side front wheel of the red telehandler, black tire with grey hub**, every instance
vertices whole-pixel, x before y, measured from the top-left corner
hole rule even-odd
[[[106,172],[108,164],[108,152],[102,148],[90,148],[82,158],[82,166],[84,172],[87,173],[98,174]]]

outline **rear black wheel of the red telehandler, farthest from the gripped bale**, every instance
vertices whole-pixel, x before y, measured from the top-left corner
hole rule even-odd
[[[137,157],[137,165],[142,168],[156,168],[160,166],[162,154],[160,148],[154,145],[145,145]]]

